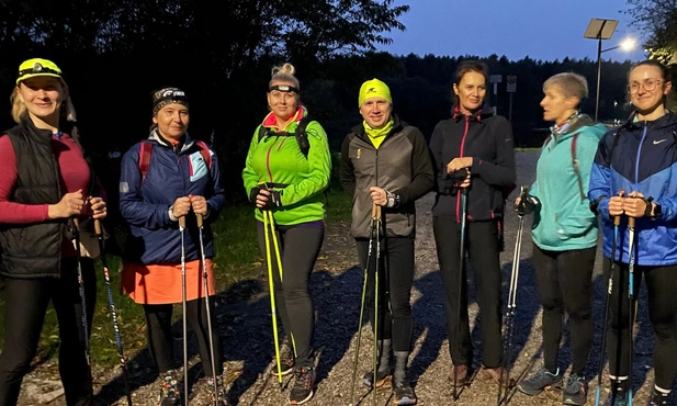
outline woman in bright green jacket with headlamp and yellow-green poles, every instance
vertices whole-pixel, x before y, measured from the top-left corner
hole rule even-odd
[[[271,261],[277,309],[292,342],[294,357],[286,353],[282,374],[294,371],[290,393],[292,405],[313,397],[315,369],[312,340],[315,314],[308,280],[325,234],[325,196],[331,173],[327,134],[315,121],[308,122],[300,104],[294,67],[272,69],[268,105],[271,112],[257,127],[249,146],[242,179],[256,205],[259,246],[266,255],[264,211],[272,211],[280,243],[283,282],[277,262]],[[274,252],[271,249],[271,252]],[[271,373],[277,374],[278,368]]]

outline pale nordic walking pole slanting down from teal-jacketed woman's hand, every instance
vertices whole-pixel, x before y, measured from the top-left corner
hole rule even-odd
[[[524,199],[527,194],[528,194],[527,187],[522,187],[520,191],[520,196]],[[510,287],[508,290],[508,306],[506,311],[506,339],[505,339],[506,351],[504,354],[505,357],[504,363],[506,365],[509,365],[510,359],[512,358],[512,350],[514,350],[512,331],[515,329],[515,313],[517,311],[517,286],[518,286],[518,281],[519,281],[519,258],[520,258],[520,251],[522,250],[522,229],[524,225],[524,213],[518,212],[517,216],[519,218],[519,223],[517,226],[517,238],[515,239],[515,250],[512,251],[512,271],[510,272]],[[506,371],[509,375],[510,369],[507,368]],[[498,402],[497,402],[498,405],[500,405],[500,403],[503,402],[501,396],[508,395],[508,391],[510,386],[510,380],[508,380],[508,382],[506,382],[506,387],[505,387],[506,391],[504,394],[503,379],[499,381],[500,382],[498,383]]]

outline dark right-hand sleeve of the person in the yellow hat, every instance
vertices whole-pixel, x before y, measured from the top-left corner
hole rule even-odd
[[[428,193],[435,185],[435,171],[426,138],[421,132],[413,127],[408,134],[411,142],[411,183],[408,187],[393,191],[399,195],[399,204],[407,204]]]

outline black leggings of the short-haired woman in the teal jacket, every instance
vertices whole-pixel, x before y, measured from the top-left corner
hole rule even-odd
[[[595,322],[593,320],[593,270],[597,247],[568,251],[542,250],[533,245],[533,266],[543,306],[545,368],[555,372],[562,339],[564,312],[572,324],[572,373],[585,376]]]

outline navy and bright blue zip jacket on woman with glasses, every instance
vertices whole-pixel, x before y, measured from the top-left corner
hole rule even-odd
[[[653,122],[635,121],[607,132],[599,143],[590,172],[590,202],[599,202],[603,229],[603,255],[611,258],[613,222],[609,198],[621,190],[636,191],[661,204],[657,218],[642,217],[635,223],[635,263],[670,266],[677,263],[677,115],[668,112]],[[628,217],[622,216],[616,260],[628,263]]]

